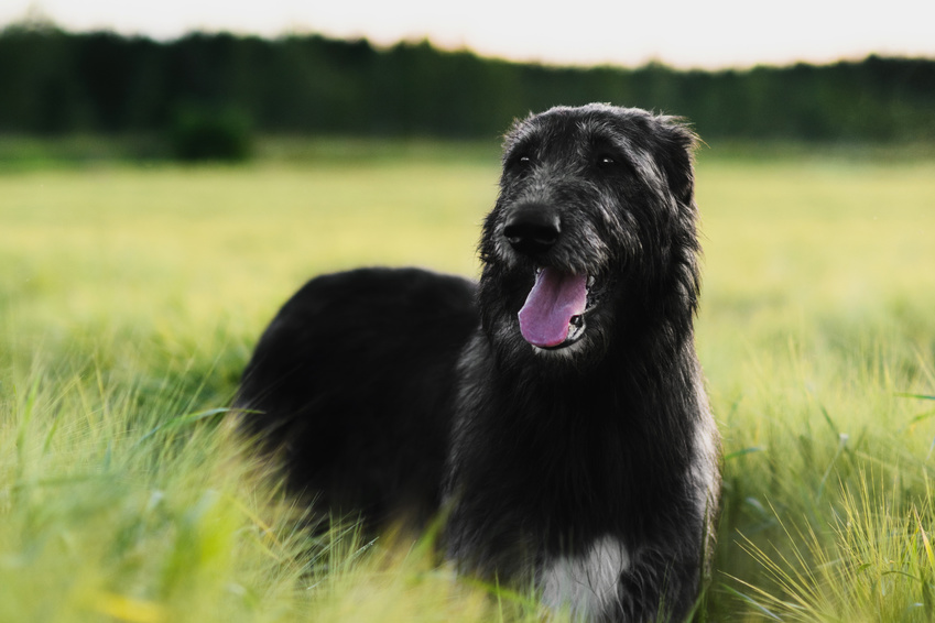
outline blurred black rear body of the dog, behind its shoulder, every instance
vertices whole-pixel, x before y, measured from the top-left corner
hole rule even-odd
[[[477,325],[475,286],[461,277],[314,278],[260,339],[237,407],[282,452],[293,490],[322,509],[424,521],[439,501],[454,368]]]

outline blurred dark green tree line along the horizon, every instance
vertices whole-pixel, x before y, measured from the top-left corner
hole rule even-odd
[[[0,32],[2,133],[164,131],[202,110],[261,132],[475,138],[529,111],[588,101],[683,116],[706,139],[935,141],[935,61],[579,68],[427,42],[378,48],[204,33],[156,42],[34,24]]]

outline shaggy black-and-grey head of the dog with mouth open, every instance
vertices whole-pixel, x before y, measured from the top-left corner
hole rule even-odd
[[[480,244],[494,342],[580,359],[599,357],[621,323],[659,306],[691,323],[693,147],[675,120],[638,109],[561,107],[518,122]]]

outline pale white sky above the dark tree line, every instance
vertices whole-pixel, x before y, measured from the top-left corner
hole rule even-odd
[[[0,24],[41,12],[69,31],[160,40],[193,30],[320,33],[558,65],[749,67],[935,58],[935,0],[0,0]]]

